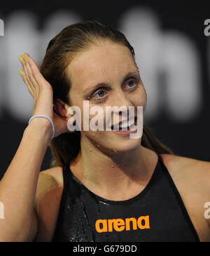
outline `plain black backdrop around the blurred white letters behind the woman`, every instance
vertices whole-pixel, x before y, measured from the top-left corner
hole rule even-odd
[[[13,11],[24,9],[36,15],[38,29],[42,30],[48,15],[59,8],[69,8],[76,11],[83,20],[98,20],[101,23],[118,28],[118,19],[132,6],[151,8],[160,18],[163,32],[167,30],[182,32],[190,37],[199,50],[202,68],[200,83],[202,110],[193,120],[178,122],[173,117],[169,117],[165,108],[162,108],[159,115],[150,120],[149,124],[158,139],[172,148],[176,155],[210,161],[208,51],[210,37],[204,36],[204,20],[210,18],[210,4],[208,4],[208,1],[13,1],[12,4],[10,1],[3,1],[0,6],[0,18],[6,23],[7,18]],[[3,37],[0,37],[0,40],[3,40]],[[0,49],[0,53],[1,51],[3,49]],[[0,72],[0,75],[2,75],[2,72]],[[1,87],[7,86],[7,84],[2,83],[0,85]],[[13,159],[24,129],[27,127],[27,120],[22,122],[14,118],[8,111],[6,101],[3,102],[0,115],[0,178]],[[50,151],[48,149],[43,160],[42,169],[48,169],[49,163]]]

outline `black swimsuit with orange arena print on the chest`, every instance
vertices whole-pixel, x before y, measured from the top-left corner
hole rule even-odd
[[[89,191],[63,167],[64,190],[52,242],[199,242],[172,177],[158,155],[138,196],[111,201]]]

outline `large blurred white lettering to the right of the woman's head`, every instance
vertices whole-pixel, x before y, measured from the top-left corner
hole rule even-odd
[[[146,118],[155,119],[164,108],[177,122],[193,119],[202,106],[200,56],[193,41],[179,31],[162,32],[158,15],[141,6],[130,8],[119,24],[134,46],[146,87]]]

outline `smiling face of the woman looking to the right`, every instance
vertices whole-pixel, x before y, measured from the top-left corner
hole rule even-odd
[[[146,90],[141,81],[139,69],[130,50],[123,45],[110,41],[79,53],[66,70],[71,79],[69,102],[81,110],[81,143],[95,146],[106,153],[123,153],[136,149],[141,145],[140,139],[117,134],[113,131],[83,131],[83,101],[88,101],[89,108],[99,106],[103,109],[104,125],[106,124],[106,106],[135,109],[146,108]],[[97,114],[96,114],[97,115]],[[89,122],[96,115],[90,115]],[[120,121],[125,120],[120,115]],[[115,122],[116,123],[116,122]],[[112,118],[113,124],[113,118]]]

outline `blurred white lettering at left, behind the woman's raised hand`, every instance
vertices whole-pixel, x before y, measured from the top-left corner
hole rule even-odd
[[[7,96],[4,105],[11,115],[22,122],[27,122],[33,112],[34,100],[29,94],[27,86],[19,75],[22,65],[19,56],[22,53],[29,53],[39,65],[48,42],[67,24],[77,22],[76,15],[71,15],[69,19],[66,11],[53,13],[45,20],[43,30],[38,30],[38,19],[34,13],[28,11],[17,11],[7,18],[7,36],[4,46],[7,53],[6,86]],[[73,18],[74,20],[73,20]],[[56,19],[55,19],[56,18]],[[60,24],[58,28],[55,24]],[[20,29],[21,28],[21,29]],[[41,51],[40,51],[41,49]],[[2,61],[2,60],[0,60]],[[9,70],[9,72],[8,72]]]

